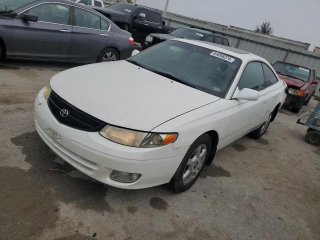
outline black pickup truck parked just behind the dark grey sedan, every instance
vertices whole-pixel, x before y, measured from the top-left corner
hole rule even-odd
[[[173,27],[165,26],[161,11],[127,2],[117,2],[106,8],[91,6],[102,13],[118,27],[129,31],[134,41],[143,44],[150,33],[169,33]]]

